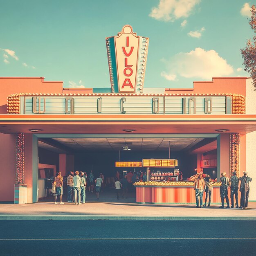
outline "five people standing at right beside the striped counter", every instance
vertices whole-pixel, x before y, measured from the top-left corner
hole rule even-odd
[[[252,181],[252,178],[247,176],[247,171],[243,172],[243,177],[238,178],[236,171],[232,173],[232,176],[229,180],[227,174],[225,172],[221,173],[220,177],[220,198],[221,198],[221,206],[219,208],[224,208],[224,201],[226,200],[227,207],[226,208],[234,208],[234,196],[236,199],[236,208],[246,209],[248,207],[248,199],[249,199],[249,182]],[[203,206],[209,207],[211,204],[211,192],[213,187],[213,182],[209,175],[204,174],[205,180],[202,176],[202,173],[197,173],[190,177],[191,181],[194,181],[194,189],[195,189],[195,200],[196,207],[202,208]],[[241,198],[240,198],[240,207],[238,203],[238,187],[240,182]],[[228,196],[228,188],[230,187],[230,200],[231,206],[229,204],[229,196]],[[205,195],[205,202],[203,204],[203,193]],[[208,204],[207,204],[207,199]],[[200,202],[199,202],[200,201]]]

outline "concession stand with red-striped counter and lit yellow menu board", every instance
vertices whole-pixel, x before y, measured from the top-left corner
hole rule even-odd
[[[174,168],[178,166],[177,159],[142,159],[143,167]],[[171,172],[162,172],[159,175],[150,174],[150,181],[135,182],[136,202],[152,204],[188,204],[195,202],[194,182],[189,180],[178,181]],[[158,173],[157,173],[158,174]],[[171,179],[167,179],[170,177]],[[212,191],[212,203],[220,202],[220,182],[215,182]]]

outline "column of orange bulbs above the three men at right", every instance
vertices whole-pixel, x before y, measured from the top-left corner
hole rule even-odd
[[[240,134],[230,133],[230,148],[229,148],[229,159],[230,159],[230,173],[236,171],[239,175],[240,172]]]

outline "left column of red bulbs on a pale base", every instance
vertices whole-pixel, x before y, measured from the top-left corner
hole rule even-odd
[[[15,175],[15,204],[27,203],[27,184],[25,182],[25,134],[16,134],[16,175]]]

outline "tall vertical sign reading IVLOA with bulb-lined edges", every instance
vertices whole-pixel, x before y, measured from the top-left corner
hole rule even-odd
[[[106,44],[112,92],[142,93],[148,38],[125,25],[117,36],[107,37]]]

